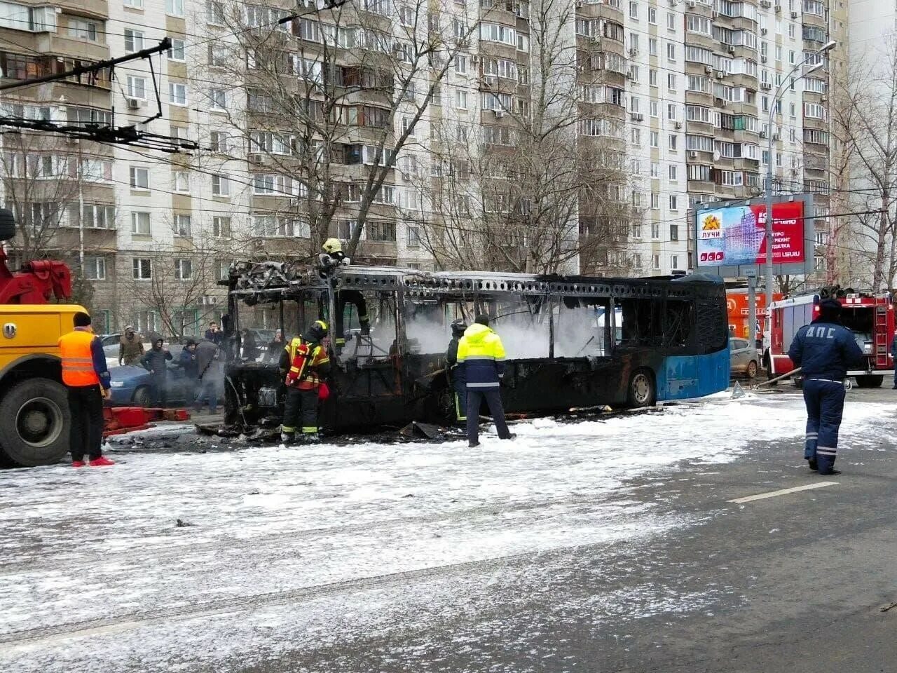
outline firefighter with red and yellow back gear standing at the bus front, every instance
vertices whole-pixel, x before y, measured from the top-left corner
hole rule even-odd
[[[302,421],[302,441],[319,441],[318,395],[321,378],[330,371],[327,348],[327,323],[316,320],[306,334],[293,337],[283,348],[280,370],[285,375],[286,401],[283,405],[281,441],[288,444],[296,436],[296,424]],[[327,384],[323,384],[325,389]]]

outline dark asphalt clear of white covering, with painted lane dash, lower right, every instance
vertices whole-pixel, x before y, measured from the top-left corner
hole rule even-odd
[[[789,388],[777,394],[799,394]],[[849,399],[897,405],[897,392],[854,390]],[[396,624],[348,646],[234,670],[893,673],[897,606],[883,608],[897,601],[897,418],[883,420],[880,433],[881,451],[842,451],[833,477],[811,473],[794,442],[757,441],[718,471],[641,480],[628,496],[658,516],[695,520],[647,554],[617,543],[536,559],[552,568],[537,592],[514,581],[534,560],[511,562],[501,568],[507,581],[483,575],[498,597],[439,627]],[[837,484],[727,503],[823,480]],[[582,609],[584,596],[628,594],[635,608],[620,620],[592,620]],[[700,609],[681,609],[690,596],[703,597]]]

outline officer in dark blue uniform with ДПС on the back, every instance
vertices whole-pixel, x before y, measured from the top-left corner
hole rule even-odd
[[[863,360],[853,333],[840,324],[840,302],[825,299],[819,317],[797,330],[788,357],[804,376],[804,458],[821,475],[837,475],[838,431],[844,411],[844,377]]]

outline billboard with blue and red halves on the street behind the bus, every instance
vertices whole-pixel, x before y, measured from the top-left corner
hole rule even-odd
[[[804,274],[813,268],[813,219],[806,198],[772,204],[772,265],[775,273]],[[717,204],[695,214],[699,271],[745,275],[766,264],[766,205],[762,199]]]

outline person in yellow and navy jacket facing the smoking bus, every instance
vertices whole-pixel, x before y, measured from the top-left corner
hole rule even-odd
[[[457,345],[457,363],[464,366],[467,388],[467,442],[471,449],[480,445],[480,406],[483,399],[495,422],[499,439],[513,439],[501,407],[501,377],[504,376],[504,346],[489,328],[489,316],[481,314],[466,328]]]

